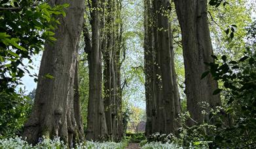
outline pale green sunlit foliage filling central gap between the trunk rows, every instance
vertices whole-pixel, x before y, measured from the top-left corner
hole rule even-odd
[[[124,43],[121,54],[121,80],[124,86],[122,100],[130,103],[143,103],[145,99],[143,71],[143,1],[123,0],[122,8]]]

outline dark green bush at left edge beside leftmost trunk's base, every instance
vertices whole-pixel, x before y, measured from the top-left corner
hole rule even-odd
[[[0,92],[0,138],[20,135],[33,101],[20,93]]]

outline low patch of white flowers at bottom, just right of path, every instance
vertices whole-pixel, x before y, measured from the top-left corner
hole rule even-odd
[[[181,146],[178,146],[174,143],[161,143],[161,142],[150,142],[141,147],[141,149],[183,149]]]

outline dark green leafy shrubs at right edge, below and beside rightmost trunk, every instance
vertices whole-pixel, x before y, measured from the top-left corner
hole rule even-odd
[[[237,61],[222,56],[221,60],[215,58],[215,63],[208,64],[215,80],[223,82],[223,88],[215,92],[222,91],[225,97],[225,112],[220,111],[215,122],[216,146],[256,146],[256,56],[250,48],[247,51]]]

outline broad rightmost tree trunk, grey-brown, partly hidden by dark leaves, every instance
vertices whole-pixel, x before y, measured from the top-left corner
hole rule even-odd
[[[202,123],[208,120],[208,116],[205,117],[202,114],[203,109],[200,103],[209,103],[210,108],[215,108],[221,103],[219,95],[213,95],[213,91],[218,88],[217,81],[210,75],[200,79],[202,73],[209,71],[204,62],[213,61],[207,0],[175,0],[174,2],[182,32],[187,108],[191,118]],[[189,125],[193,125],[194,121],[190,120]]]

